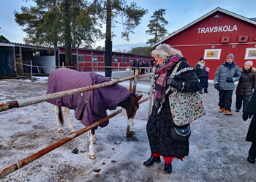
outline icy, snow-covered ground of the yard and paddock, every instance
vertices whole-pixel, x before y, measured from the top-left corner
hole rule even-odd
[[[0,103],[45,94],[47,80],[40,78],[36,82],[0,80]],[[121,85],[128,87],[129,83]],[[148,83],[139,83],[137,89],[143,98],[148,96]],[[218,93],[213,83],[209,94],[203,94],[202,98],[206,115],[192,123],[189,156],[184,162],[173,160],[171,174],[164,172],[163,160],[151,167],[143,166],[151,154],[146,135],[148,102],[143,102],[132,126],[135,132],[132,139],[125,137],[127,124],[121,115],[96,130],[96,159],[89,159],[89,139],[82,134],[0,181],[256,181],[256,164],[246,161],[249,121],[242,121],[241,113],[226,116],[217,112]],[[233,111],[235,99],[234,94]],[[77,131],[84,127],[75,118],[72,121]],[[64,134],[57,132],[53,106],[47,102],[1,112],[0,170],[68,134],[67,126]],[[78,154],[71,153],[74,148],[79,149]]]

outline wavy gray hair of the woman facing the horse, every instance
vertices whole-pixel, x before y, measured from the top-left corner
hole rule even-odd
[[[162,44],[162,45],[157,45],[157,48],[152,51],[151,55],[157,56],[159,58],[167,58],[167,56],[180,56],[182,57],[182,53],[180,50],[176,50],[174,48],[170,48],[170,45],[167,44]]]

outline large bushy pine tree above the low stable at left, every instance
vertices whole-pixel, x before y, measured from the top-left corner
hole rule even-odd
[[[26,44],[66,48],[65,65],[72,66],[71,46],[90,47],[102,38],[97,29],[97,7],[82,0],[34,0],[36,6],[15,11],[15,21],[28,36]]]

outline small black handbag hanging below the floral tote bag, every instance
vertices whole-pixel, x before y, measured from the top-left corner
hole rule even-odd
[[[170,130],[170,136],[176,142],[185,142],[189,139],[191,134],[190,124],[185,126],[173,126]]]

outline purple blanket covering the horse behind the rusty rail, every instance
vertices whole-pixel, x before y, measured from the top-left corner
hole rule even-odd
[[[94,72],[78,72],[73,69],[56,69],[48,78],[47,94],[91,86],[111,81],[108,77]],[[126,100],[131,93],[118,84],[86,91],[81,94],[49,100],[53,105],[75,110],[75,118],[88,126],[107,116],[106,110],[115,110],[118,103]],[[108,121],[99,126],[105,127]],[[95,128],[97,129],[97,127]]]

